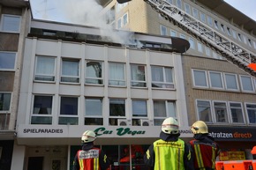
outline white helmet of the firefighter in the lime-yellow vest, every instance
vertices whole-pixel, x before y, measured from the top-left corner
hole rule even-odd
[[[166,118],[162,122],[162,132],[167,134],[177,134],[178,133],[178,123],[173,117]]]

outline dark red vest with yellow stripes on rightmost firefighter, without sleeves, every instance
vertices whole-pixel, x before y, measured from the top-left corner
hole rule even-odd
[[[190,142],[194,151],[195,169],[215,169],[215,159],[218,155],[218,147],[215,143],[202,143],[197,140]]]

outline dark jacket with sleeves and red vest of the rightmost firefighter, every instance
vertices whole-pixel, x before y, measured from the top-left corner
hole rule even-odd
[[[192,145],[192,159],[195,170],[215,169],[215,160],[220,152],[215,139],[207,136],[207,134],[197,134],[194,138],[190,141],[190,144]]]

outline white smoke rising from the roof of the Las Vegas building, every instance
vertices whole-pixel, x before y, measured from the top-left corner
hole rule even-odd
[[[129,44],[132,38],[131,32],[119,32],[107,24],[105,15],[102,15],[103,7],[96,0],[65,0],[58,4],[64,11],[65,18],[70,23],[85,26],[96,26],[101,30],[101,35],[108,40],[121,44]],[[114,14],[115,12],[109,12]]]

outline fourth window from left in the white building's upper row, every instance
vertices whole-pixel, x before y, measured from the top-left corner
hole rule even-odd
[[[124,63],[109,63],[109,85],[126,85]]]

